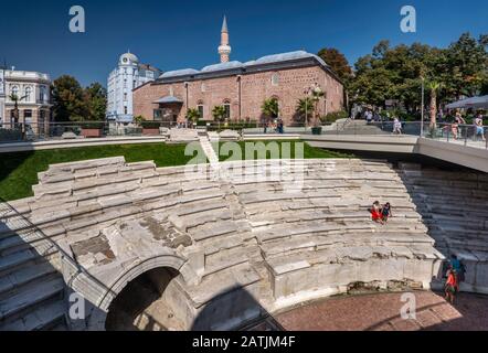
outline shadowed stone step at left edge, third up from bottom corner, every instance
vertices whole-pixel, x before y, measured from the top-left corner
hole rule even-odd
[[[57,272],[50,263],[38,263],[0,277],[0,300],[12,290]]]

